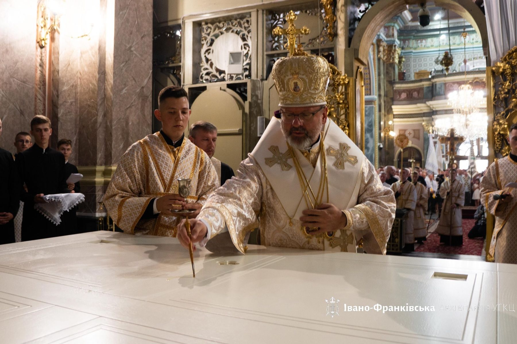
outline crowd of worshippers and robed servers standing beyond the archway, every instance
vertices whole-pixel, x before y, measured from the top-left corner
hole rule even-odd
[[[398,169],[394,166],[379,167],[377,174],[387,188],[396,195],[398,208],[408,211],[406,221],[405,250],[414,249],[415,240],[423,243],[427,236],[427,224],[424,216],[439,214],[437,233],[440,241],[446,244],[461,245],[463,241],[461,207],[476,206],[476,224],[470,230],[469,238],[485,237],[485,209],[480,204],[480,183],[485,172],[476,172],[472,177],[465,170],[449,168],[439,170],[438,174],[420,168]],[[407,185],[404,185],[405,182]],[[454,183],[454,181],[457,181]],[[395,185],[393,187],[393,185]],[[451,187],[454,190],[451,190]],[[414,190],[413,190],[414,189]],[[452,193],[451,193],[452,191]],[[447,200],[447,196],[449,199]],[[444,201],[447,207],[444,208]],[[452,210],[450,209],[452,207]],[[458,208],[457,210],[454,210]],[[443,210],[443,211],[442,211]],[[442,219],[442,212],[445,217]],[[429,217],[429,220],[431,217]]]

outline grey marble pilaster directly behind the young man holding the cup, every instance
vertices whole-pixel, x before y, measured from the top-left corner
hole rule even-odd
[[[151,132],[153,2],[117,0],[114,37],[112,163]]]

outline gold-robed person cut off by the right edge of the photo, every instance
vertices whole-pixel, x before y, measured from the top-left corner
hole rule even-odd
[[[517,124],[510,127],[509,141],[511,153],[494,161],[483,176],[481,202],[495,216],[488,260],[517,264],[517,189],[505,187],[517,183]]]

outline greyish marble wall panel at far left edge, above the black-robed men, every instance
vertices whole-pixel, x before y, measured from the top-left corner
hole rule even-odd
[[[13,153],[34,117],[36,8],[36,0],[0,1],[0,147]]]

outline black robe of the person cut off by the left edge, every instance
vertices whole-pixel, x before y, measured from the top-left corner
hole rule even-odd
[[[0,244],[14,242],[14,217],[20,207],[18,185],[18,172],[12,154],[0,148],[0,213],[12,214],[9,222],[0,224]]]

